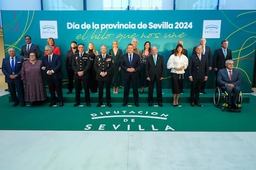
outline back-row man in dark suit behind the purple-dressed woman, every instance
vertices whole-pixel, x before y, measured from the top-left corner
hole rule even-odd
[[[29,56],[28,53],[30,51],[35,51],[38,55],[38,58],[41,56],[40,49],[36,44],[32,44],[32,39],[30,36],[25,36],[26,45],[22,46],[22,49],[20,51],[20,57],[22,57],[24,60],[28,60]]]

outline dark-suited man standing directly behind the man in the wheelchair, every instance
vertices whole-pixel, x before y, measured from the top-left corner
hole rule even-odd
[[[226,60],[232,60],[232,52],[230,49],[228,49],[228,41],[223,40],[221,41],[221,48],[216,49],[213,55],[213,68],[215,70],[216,75],[216,81],[215,86],[217,86],[217,76],[218,76],[218,70],[225,67]]]

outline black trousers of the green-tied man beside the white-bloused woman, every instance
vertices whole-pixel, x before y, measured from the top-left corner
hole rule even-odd
[[[148,102],[153,102],[153,90],[156,83],[156,98],[157,102],[163,102],[162,97],[162,81],[157,79],[156,76],[148,81]]]

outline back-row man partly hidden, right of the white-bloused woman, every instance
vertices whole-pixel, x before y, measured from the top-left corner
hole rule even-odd
[[[209,65],[208,69],[209,69],[209,71],[211,71],[213,68],[213,58],[211,57],[211,48],[209,46],[206,46],[206,42],[207,41],[205,38],[201,38],[199,41],[199,46],[202,46],[202,48],[203,48],[202,54],[205,55],[205,57],[207,57],[208,65]],[[192,55],[197,53],[195,51],[196,48],[197,48],[197,46],[194,47]],[[206,94],[206,92],[205,92],[206,83],[207,83],[207,81],[203,81],[202,87],[200,89],[200,92],[202,94]]]

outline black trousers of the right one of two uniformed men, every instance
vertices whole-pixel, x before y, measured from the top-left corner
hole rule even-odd
[[[99,86],[99,96],[98,96],[98,103],[103,103],[103,89],[104,89],[104,84],[106,86],[106,102],[110,103],[111,101],[111,96],[110,96],[110,81],[98,81],[98,86]]]

